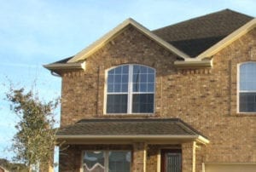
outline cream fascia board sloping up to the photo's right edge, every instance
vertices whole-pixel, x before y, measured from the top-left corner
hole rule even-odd
[[[214,44],[212,47],[210,47],[206,51],[196,56],[195,59],[202,60],[202,59],[211,57],[213,54],[218,53],[218,51],[220,51],[221,49],[224,49],[230,43],[233,43],[234,41],[236,41],[236,39],[238,39],[239,37],[251,31],[255,26],[256,26],[256,18],[248,21],[247,24],[238,28],[235,32],[230,33],[230,35],[228,35],[227,37],[224,37],[224,39],[222,39],[221,41]]]

